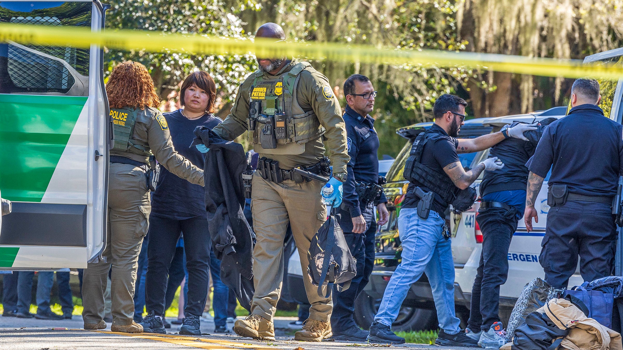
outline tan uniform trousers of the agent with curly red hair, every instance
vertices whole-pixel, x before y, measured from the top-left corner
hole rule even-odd
[[[134,318],[134,288],[138,253],[147,234],[150,196],[141,168],[111,163],[108,179],[108,232],[103,256],[107,262],[89,263],[82,281],[84,323],[104,317],[104,293],[112,267],[110,292],[113,324],[128,325]]]

